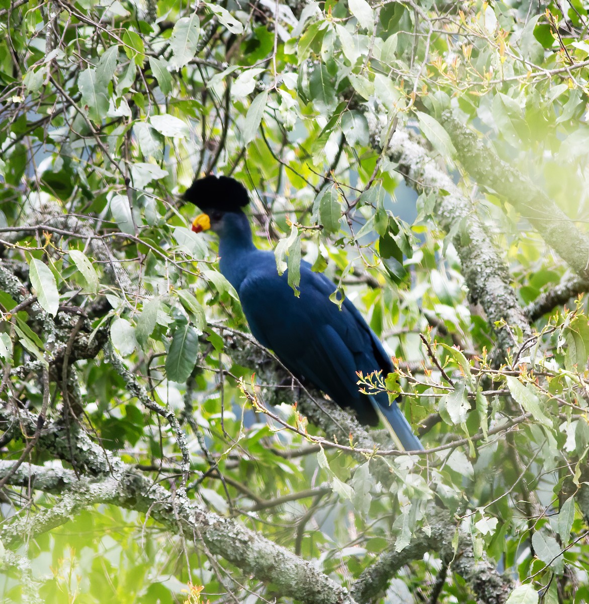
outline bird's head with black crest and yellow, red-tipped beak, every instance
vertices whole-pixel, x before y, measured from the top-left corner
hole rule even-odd
[[[228,176],[197,178],[184,193],[184,201],[202,210],[194,221],[195,233],[211,229],[220,235],[228,226],[231,214],[243,214],[249,203],[246,188]]]

